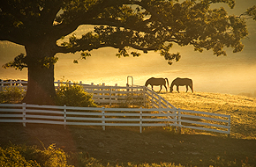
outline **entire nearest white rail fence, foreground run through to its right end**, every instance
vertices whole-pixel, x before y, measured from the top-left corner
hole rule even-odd
[[[187,127],[230,134],[230,115],[176,108],[99,108],[0,104],[0,122],[105,127]]]

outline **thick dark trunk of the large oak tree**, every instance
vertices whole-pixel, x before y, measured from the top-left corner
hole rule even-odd
[[[45,42],[47,43],[47,42]],[[54,87],[54,64],[43,65],[45,57],[54,57],[52,46],[32,44],[26,47],[28,84],[23,103],[34,105],[54,105],[56,91]]]

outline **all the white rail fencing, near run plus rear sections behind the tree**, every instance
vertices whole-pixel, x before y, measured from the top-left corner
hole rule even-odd
[[[26,89],[24,81],[15,83],[2,82],[20,86]],[[60,81],[55,82],[59,89]],[[73,84],[73,83],[68,83]],[[0,122],[21,122],[83,125],[83,126],[108,126],[121,127],[187,127],[212,131],[222,134],[230,134],[230,115],[218,113],[206,113],[177,109],[166,99],[145,86],[106,86],[94,84],[82,84],[85,91],[92,93],[94,101],[99,104],[149,103],[153,108],[98,108],[98,107],[72,107],[52,105],[27,105],[27,104],[0,104]]]

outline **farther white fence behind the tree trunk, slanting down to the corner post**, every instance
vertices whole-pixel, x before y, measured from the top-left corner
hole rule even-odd
[[[105,84],[82,84],[72,82],[61,82],[60,80],[54,82],[56,90],[60,88],[61,84],[79,84],[85,91],[93,94],[95,103],[98,104],[139,104],[146,106],[147,102],[154,108],[176,108],[171,105],[166,99],[159,96],[156,92],[149,90],[145,86],[108,86]],[[24,80],[0,80],[0,91],[4,87],[18,86],[26,91],[27,81]]]

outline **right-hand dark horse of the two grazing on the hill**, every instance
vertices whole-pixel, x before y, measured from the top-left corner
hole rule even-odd
[[[193,84],[192,84],[192,79],[190,78],[180,78],[177,77],[175,80],[172,81],[170,87],[169,87],[169,91],[172,92],[173,91],[173,86],[176,85],[177,87],[177,92],[178,91],[178,86],[186,86],[186,91],[188,91],[188,87],[190,87],[191,91],[193,92]]]

